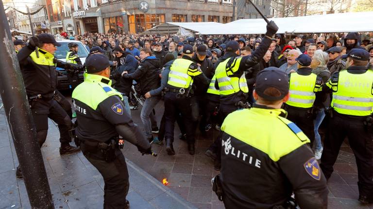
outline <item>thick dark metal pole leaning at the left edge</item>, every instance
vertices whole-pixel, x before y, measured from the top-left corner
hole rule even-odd
[[[54,209],[35,125],[0,0],[0,95],[32,209]]]

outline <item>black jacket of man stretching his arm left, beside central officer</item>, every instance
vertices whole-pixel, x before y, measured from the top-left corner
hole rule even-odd
[[[140,62],[135,73],[124,74],[123,77],[134,79],[140,83],[141,95],[145,95],[148,91],[157,89],[161,85],[160,69],[160,60],[154,56],[149,56]]]

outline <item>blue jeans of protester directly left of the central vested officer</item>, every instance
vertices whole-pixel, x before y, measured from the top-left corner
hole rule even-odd
[[[153,108],[156,104],[161,100],[160,96],[152,96],[145,100],[144,105],[142,105],[140,118],[142,123],[144,124],[145,129],[145,136],[146,138],[151,138],[152,134],[152,122],[150,117],[153,116]]]

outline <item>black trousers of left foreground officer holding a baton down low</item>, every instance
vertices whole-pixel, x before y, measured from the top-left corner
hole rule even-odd
[[[81,144],[85,158],[101,173],[105,186],[103,188],[103,209],[124,209],[130,183],[127,164],[123,153],[116,150],[116,159],[107,163],[101,150],[90,151]]]

